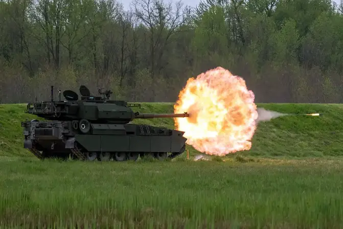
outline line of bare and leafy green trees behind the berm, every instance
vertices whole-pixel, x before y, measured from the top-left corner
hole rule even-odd
[[[50,85],[177,99],[222,66],[257,102],[342,102],[343,4],[329,0],[0,0],[0,102],[49,99]]]

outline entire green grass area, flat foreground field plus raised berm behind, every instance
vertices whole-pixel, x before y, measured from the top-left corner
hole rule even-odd
[[[194,162],[38,161],[22,149],[25,105],[0,105],[0,227],[341,228],[343,106],[258,104],[249,151]],[[141,112],[173,112],[143,103]],[[173,127],[172,119],[136,120]]]

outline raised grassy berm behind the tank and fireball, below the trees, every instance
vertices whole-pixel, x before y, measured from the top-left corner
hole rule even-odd
[[[343,156],[343,106],[340,104],[258,104],[258,107],[285,113],[323,113],[320,117],[286,116],[270,122],[259,123],[253,146],[248,151],[232,156],[262,157],[324,157]],[[25,114],[25,104],[0,105],[0,156],[32,157],[23,148],[20,122],[35,119]],[[139,109],[135,109],[139,110]],[[140,112],[172,113],[171,103],[142,103]],[[174,128],[173,119],[135,120],[144,123]],[[199,154],[187,146],[190,155]],[[186,154],[182,155],[183,157]],[[181,156],[181,157],[182,157]]]

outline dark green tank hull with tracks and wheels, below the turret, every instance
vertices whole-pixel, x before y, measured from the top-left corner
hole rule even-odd
[[[186,147],[184,132],[178,130],[138,124],[86,125],[87,131],[82,131],[81,125],[73,121],[23,122],[24,148],[40,159],[71,156],[82,160],[126,161],[146,154],[174,158]]]

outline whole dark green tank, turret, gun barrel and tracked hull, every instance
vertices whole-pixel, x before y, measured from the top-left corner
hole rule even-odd
[[[99,89],[92,96],[80,86],[81,100],[72,90],[63,91],[65,100],[28,103],[26,113],[45,119],[21,123],[24,128],[24,148],[40,159],[57,157],[86,161],[126,161],[139,155],[174,158],[183,153],[187,139],[184,132],[149,125],[131,124],[134,119],[183,118],[188,113],[151,114],[133,112],[140,104],[110,100],[112,92]]]

